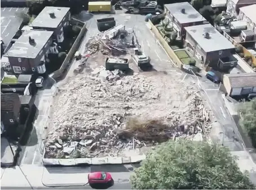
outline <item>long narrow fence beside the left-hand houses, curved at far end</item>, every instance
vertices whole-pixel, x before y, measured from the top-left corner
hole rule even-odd
[[[72,20],[72,21],[75,22],[77,26],[82,26],[82,29],[81,29],[80,33],[78,34],[77,39],[74,41],[73,46],[70,48],[67,57],[63,61],[63,64],[60,66],[60,69],[58,69],[58,70],[54,71],[54,73],[52,73],[51,77],[55,80],[60,78],[64,74],[64,71],[71,64],[71,61],[73,60],[73,57],[74,57],[74,53],[76,53],[76,51],[78,50],[81,40],[83,39],[83,37],[85,36],[85,34],[87,32],[86,25],[83,22],[78,21],[78,20]]]

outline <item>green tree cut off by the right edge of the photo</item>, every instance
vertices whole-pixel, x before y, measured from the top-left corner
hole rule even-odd
[[[240,111],[242,128],[248,133],[253,146],[256,147],[256,98],[250,102],[244,102]]]

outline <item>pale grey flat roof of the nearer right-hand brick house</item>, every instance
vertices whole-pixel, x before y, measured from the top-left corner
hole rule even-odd
[[[197,42],[198,46],[205,52],[219,51],[223,49],[235,48],[222,34],[211,24],[185,27],[187,33]],[[210,39],[204,38],[204,34],[209,33]]]

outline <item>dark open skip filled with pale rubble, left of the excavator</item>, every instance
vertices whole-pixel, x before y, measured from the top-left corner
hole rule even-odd
[[[121,71],[129,71],[129,60],[127,58],[108,57],[105,62],[106,70],[112,71],[119,69]]]

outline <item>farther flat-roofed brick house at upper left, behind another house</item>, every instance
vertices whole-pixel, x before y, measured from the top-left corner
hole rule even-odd
[[[64,40],[64,26],[69,24],[69,7],[45,7],[29,25],[33,30],[54,31],[52,39],[60,43]]]

